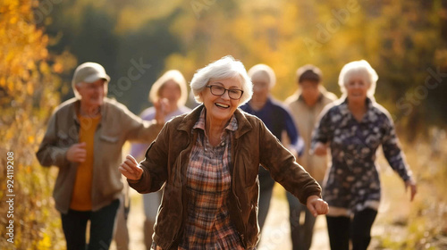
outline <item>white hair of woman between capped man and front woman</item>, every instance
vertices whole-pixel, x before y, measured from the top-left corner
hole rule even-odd
[[[171,70],[166,71],[156,82],[152,85],[149,91],[148,100],[153,104],[160,98],[161,90],[166,82],[173,80],[180,88],[180,98],[177,101],[179,106],[184,106],[188,99],[188,89],[186,87],[186,80],[181,74],[181,71]]]

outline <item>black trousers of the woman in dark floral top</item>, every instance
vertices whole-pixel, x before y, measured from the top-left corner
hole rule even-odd
[[[332,250],[366,250],[371,241],[371,227],[377,211],[367,208],[356,212],[354,217],[326,216],[327,231]]]

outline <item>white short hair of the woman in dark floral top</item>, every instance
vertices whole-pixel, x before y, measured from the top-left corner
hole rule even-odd
[[[343,96],[348,95],[346,84],[348,84],[350,77],[357,74],[363,74],[365,76],[365,80],[369,83],[367,96],[374,100],[375,85],[379,76],[373,67],[371,67],[365,60],[350,62],[343,66],[338,79],[338,85],[340,86]]]

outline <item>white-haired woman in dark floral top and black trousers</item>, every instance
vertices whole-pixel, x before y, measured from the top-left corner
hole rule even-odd
[[[317,155],[331,148],[332,166],[325,176],[324,197],[331,211],[327,229],[331,249],[367,249],[370,231],[380,202],[380,180],[375,153],[382,145],[384,156],[410,187],[416,183],[401,152],[390,114],[375,102],[375,70],[361,60],[342,68],[339,85],[342,99],[325,107],[312,137]]]

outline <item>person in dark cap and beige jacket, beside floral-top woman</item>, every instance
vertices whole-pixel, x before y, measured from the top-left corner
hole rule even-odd
[[[326,104],[331,104],[337,99],[337,96],[328,92],[321,83],[322,73],[314,65],[305,65],[297,71],[297,83],[299,90],[288,97],[285,104],[289,106],[291,114],[295,120],[296,127],[304,140],[307,150],[310,148],[310,139],[312,131],[318,121],[318,115]],[[327,158],[305,154],[299,156],[298,162],[305,167],[306,171],[316,179],[321,185],[325,178],[327,168]],[[309,249],[312,244],[312,235],[316,218],[308,209],[299,204],[299,201],[287,193],[289,200],[290,218],[291,218],[291,239],[293,249]],[[299,216],[305,212],[304,224],[300,224]],[[292,221],[293,220],[293,221]]]

